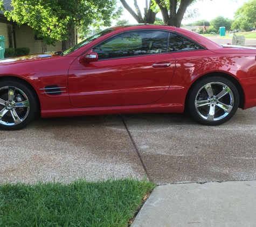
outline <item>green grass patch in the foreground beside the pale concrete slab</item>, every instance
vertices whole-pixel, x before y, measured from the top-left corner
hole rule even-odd
[[[0,226],[127,226],[154,187],[133,179],[1,185]]]

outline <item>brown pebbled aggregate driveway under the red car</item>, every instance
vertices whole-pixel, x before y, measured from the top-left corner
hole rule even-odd
[[[220,126],[185,114],[36,119],[1,131],[0,183],[143,179],[157,185],[256,179],[256,108]]]

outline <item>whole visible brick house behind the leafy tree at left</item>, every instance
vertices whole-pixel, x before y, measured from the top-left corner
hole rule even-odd
[[[3,2],[5,10],[11,10],[11,0],[4,0]],[[28,25],[18,26],[15,22],[9,21],[1,10],[0,36],[5,38],[5,48],[29,47],[30,54],[61,50],[61,41],[57,41],[56,46],[46,45],[42,39],[36,38],[32,27]]]

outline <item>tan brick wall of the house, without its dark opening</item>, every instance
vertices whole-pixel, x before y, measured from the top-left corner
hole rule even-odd
[[[30,54],[38,54],[49,51],[61,51],[61,41],[56,46],[45,45],[41,40],[34,38],[33,29],[28,25],[15,26],[16,48],[29,47]]]

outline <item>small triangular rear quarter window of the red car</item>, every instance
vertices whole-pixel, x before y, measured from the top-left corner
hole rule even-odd
[[[168,51],[189,51],[191,49],[201,49],[201,47],[182,36],[170,33]]]

